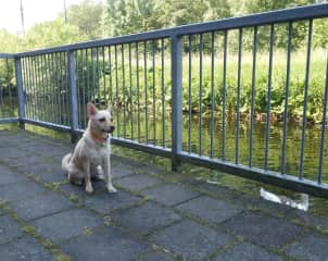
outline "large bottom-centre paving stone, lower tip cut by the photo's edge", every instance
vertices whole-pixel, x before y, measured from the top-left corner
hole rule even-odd
[[[232,243],[230,236],[187,220],[160,231],[151,239],[182,260],[203,260]]]

